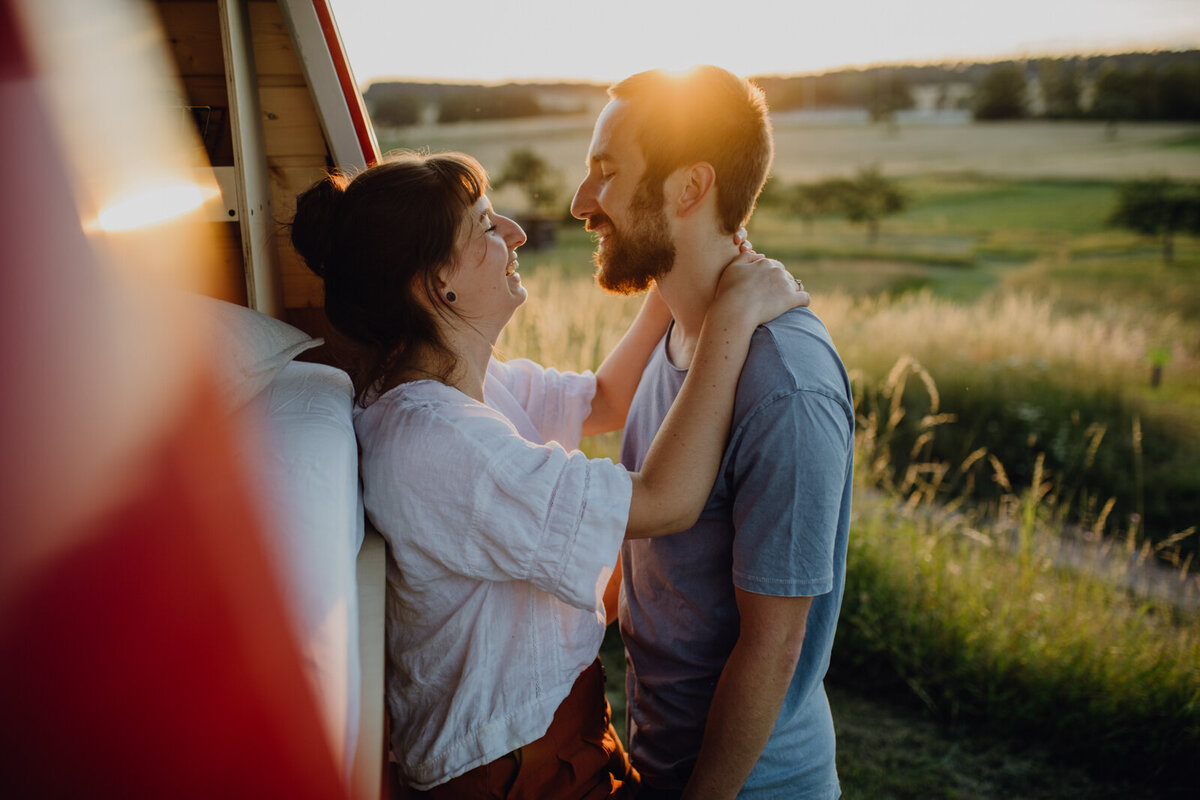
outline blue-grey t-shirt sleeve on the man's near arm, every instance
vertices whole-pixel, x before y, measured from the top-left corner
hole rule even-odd
[[[853,447],[846,410],[798,390],[734,432],[733,583],[764,595],[833,590],[834,540]]]

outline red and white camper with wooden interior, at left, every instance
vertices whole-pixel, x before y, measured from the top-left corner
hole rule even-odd
[[[299,192],[328,0],[0,0],[0,796],[379,798],[384,547]]]

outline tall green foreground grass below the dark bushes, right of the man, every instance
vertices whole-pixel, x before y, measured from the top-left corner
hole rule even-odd
[[[1038,459],[1013,485],[995,456],[912,463],[894,480],[890,453],[911,359],[892,371],[888,401],[860,416],[858,494],[847,587],[830,679],[918,698],[942,718],[1030,738],[1093,771],[1194,787],[1200,752],[1200,579],[1178,553],[1136,525],[1102,539],[1063,525],[1061,499]],[[986,507],[943,503],[949,471],[980,464],[1001,487]],[[865,491],[864,491],[865,489]]]

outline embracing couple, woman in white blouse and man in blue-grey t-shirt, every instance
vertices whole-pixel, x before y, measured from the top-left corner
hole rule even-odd
[[[600,285],[647,297],[595,373],[493,357],[524,234],[469,156],[395,156],[298,200],[293,242],[359,356],[400,782],[829,800],[853,404],[803,285],[744,241],[767,106],[716,67],[610,97],[571,211]],[[620,464],[578,451],[622,427]],[[596,660],[614,610],[629,756]]]

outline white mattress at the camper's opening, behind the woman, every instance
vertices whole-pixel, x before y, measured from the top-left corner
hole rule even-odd
[[[343,772],[360,715],[355,558],[364,536],[349,377],[293,361],[238,411],[241,455],[271,521],[272,561]]]

